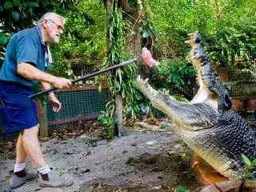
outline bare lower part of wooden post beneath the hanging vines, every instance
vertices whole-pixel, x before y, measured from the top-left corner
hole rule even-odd
[[[117,115],[117,118],[118,118],[118,137],[121,137],[122,135],[125,134],[123,118],[122,118],[122,95],[117,94],[115,96],[115,104],[116,104],[115,114]]]

